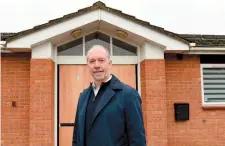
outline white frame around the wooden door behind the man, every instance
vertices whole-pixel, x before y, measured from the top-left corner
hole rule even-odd
[[[110,36],[111,37],[111,36]],[[111,37],[112,38],[112,37]],[[124,41],[124,40],[121,40]],[[126,41],[125,41],[126,42]],[[128,43],[128,42],[127,42]],[[132,44],[132,43],[130,43]],[[132,44],[133,45],[133,44]],[[140,62],[141,46],[137,46],[137,56],[111,56],[113,64],[134,64],[136,68],[136,88],[141,95],[141,79],[140,79]],[[54,58],[55,58],[55,97],[54,97],[54,145],[59,146],[59,66],[60,65],[76,65],[76,64],[86,64],[86,56],[57,56],[57,46],[54,47]],[[126,57],[127,59],[124,59]],[[77,59],[75,59],[77,58]]]

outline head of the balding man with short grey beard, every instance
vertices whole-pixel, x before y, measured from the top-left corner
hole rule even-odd
[[[93,46],[87,53],[87,67],[96,82],[108,79],[112,66],[108,49],[103,46]]]

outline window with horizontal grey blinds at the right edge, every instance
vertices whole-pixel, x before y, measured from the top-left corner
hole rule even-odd
[[[225,104],[225,64],[202,64],[203,104]]]

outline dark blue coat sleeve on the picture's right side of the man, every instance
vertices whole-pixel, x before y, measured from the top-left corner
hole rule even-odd
[[[146,146],[141,98],[135,89],[124,95],[126,131],[129,146]]]

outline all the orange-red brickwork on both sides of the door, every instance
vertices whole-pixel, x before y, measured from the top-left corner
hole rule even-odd
[[[53,146],[53,61],[2,54],[1,71],[2,146]],[[201,105],[198,57],[142,61],[141,90],[148,145],[225,145],[225,110]],[[174,120],[175,102],[190,103],[189,121]]]

